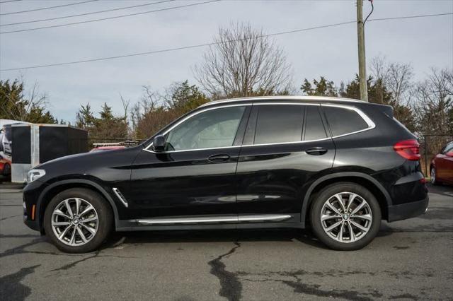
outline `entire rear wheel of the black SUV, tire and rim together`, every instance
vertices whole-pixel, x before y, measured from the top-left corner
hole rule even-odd
[[[345,213],[336,196],[343,201],[345,208],[349,207],[348,213]],[[348,206],[350,196],[353,197]],[[336,208],[337,213],[327,203]],[[354,213],[354,216],[351,213]],[[328,185],[315,197],[310,211],[310,224],[314,235],[331,249],[362,249],[379,231],[381,209],[376,197],[365,187],[351,182],[339,182]],[[353,235],[350,235],[351,230]]]

